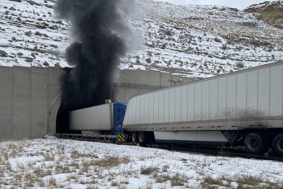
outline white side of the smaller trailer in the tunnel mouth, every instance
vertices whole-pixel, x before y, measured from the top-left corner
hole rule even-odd
[[[114,103],[102,104],[69,112],[69,129],[103,131],[113,129]]]

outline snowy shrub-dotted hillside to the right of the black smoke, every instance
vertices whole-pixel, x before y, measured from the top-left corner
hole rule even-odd
[[[283,31],[249,13],[222,6],[138,4],[145,16],[133,27],[143,31],[148,47],[135,52],[142,58],[128,60],[134,68],[143,64],[205,78],[282,60]]]

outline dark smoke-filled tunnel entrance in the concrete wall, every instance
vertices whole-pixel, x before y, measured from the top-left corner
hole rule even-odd
[[[78,68],[76,70],[81,71]],[[115,83],[108,78],[76,78],[76,70],[67,68],[62,72],[62,100],[56,117],[57,133],[81,133],[69,130],[69,111],[104,104],[105,99],[115,99],[118,88]]]

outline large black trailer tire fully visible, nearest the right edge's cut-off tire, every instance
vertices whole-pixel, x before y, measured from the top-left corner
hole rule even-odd
[[[244,141],[246,151],[251,154],[264,154],[269,150],[265,137],[260,133],[249,133]]]

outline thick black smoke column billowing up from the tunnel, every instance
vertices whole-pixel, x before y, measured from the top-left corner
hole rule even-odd
[[[65,51],[74,68],[62,75],[57,132],[68,128],[68,111],[116,100],[118,66],[127,52],[125,37],[130,32],[126,24],[130,5],[129,0],[56,1],[55,11],[70,21],[74,39]]]

